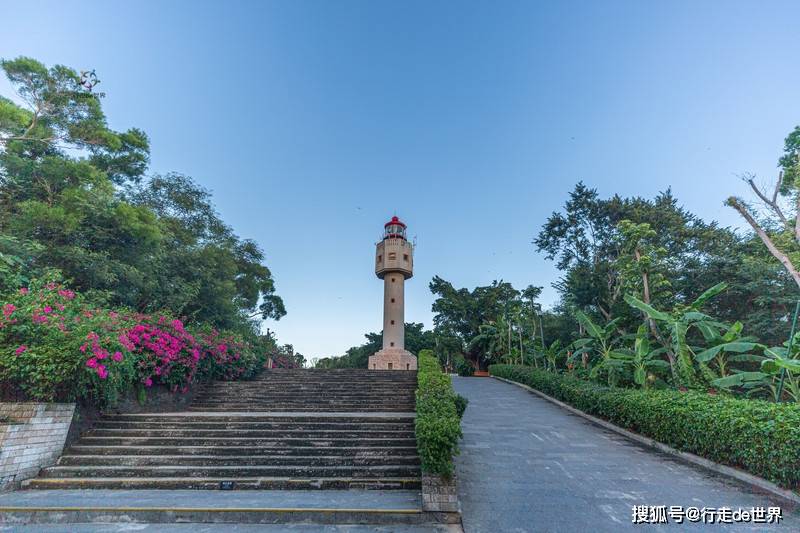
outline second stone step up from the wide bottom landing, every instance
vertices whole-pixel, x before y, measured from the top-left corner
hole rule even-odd
[[[50,466],[42,469],[47,478],[229,478],[284,477],[409,477],[419,474],[419,465],[88,465]]]

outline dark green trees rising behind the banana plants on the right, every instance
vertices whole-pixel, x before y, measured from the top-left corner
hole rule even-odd
[[[741,320],[765,343],[782,342],[789,333],[796,286],[758,237],[700,220],[669,191],[652,200],[602,199],[579,183],[534,244],[564,272],[554,283],[560,315],[545,320],[564,345],[575,338],[571,309],[601,322],[622,318],[621,329],[630,331],[640,317],[623,301],[625,292],[646,299],[647,286],[654,305],[671,308],[690,304],[720,279],[730,288],[708,303],[710,313],[730,323]]]

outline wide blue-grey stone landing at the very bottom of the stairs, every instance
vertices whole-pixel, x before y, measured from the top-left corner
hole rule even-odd
[[[87,497],[88,496],[88,497]],[[396,526],[422,524],[414,531],[441,531],[421,509],[418,491],[295,490],[295,491],[190,491],[190,490],[85,490],[14,491],[0,494],[0,530],[33,531],[224,531],[201,524],[259,524],[248,531],[328,531],[323,524]],[[114,525],[111,525],[114,523]],[[193,524],[148,527],[145,524]],[[61,524],[54,526],[53,524]],[[65,524],[75,524],[72,527]],[[87,525],[94,524],[94,525]],[[4,527],[5,526],[5,529]],[[343,529],[351,530],[353,526]],[[241,526],[231,525],[231,531]],[[365,527],[354,527],[365,530]],[[394,528],[380,528],[394,531]]]

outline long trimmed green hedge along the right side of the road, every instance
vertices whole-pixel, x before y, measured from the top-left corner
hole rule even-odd
[[[800,405],[699,392],[608,388],[531,367],[492,365],[523,383],[659,442],[800,488]]]

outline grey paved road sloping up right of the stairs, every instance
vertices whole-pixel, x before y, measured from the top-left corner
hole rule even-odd
[[[635,505],[782,506],[780,526],[670,524],[672,531],[800,531],[800,511],[631,442],[530,392],[454,378],[469,398],[456,460],[466,533],[641,531]],[[663,529],[664,526],[661,526]]]

